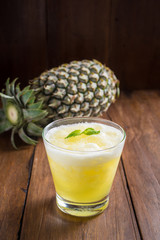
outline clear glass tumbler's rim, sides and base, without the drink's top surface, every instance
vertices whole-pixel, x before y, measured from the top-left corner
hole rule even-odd
[[[122,134],[112,147],[102,150],[68,150],[49,142],[49,130],[75,123],[100,123]],[[109,203],[109,192],[116,174],[126,139],[125,131],[116,123],[94,117],[73,117],[56,120],[43,130],[43,141],[56,189],[60,210],[74,216],[93,216],[103,212]]]

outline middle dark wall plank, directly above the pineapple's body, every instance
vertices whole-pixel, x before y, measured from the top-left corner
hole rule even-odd
[[[82,59],[108,62],[111,0],[47,0],[49,66]]]

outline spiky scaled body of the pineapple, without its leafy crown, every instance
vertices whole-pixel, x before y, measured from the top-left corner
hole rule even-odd
[[[64,117],[99,116],[119,94],[115,74],[97,60],[62,64],[43,72],[30,85],[49,113],[45,123]]]

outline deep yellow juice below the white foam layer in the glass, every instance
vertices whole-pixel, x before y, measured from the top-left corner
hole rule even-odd
[[[109,194],[119,161],[117,158],[99,164],[94,159],[88,166],[77,167],[48,159],[56,192],[64,199],[81,203],[96,202]]]

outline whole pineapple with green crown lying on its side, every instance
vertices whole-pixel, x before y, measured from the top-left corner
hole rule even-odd
[[[1,99],[0,133],[12,130],[28,144],[36,144],[43,127],[65,117],[99,116],[119,96],[114,73],[93,60],[72,61],[43,72],[23,90],[15,79],[6,82]]]

